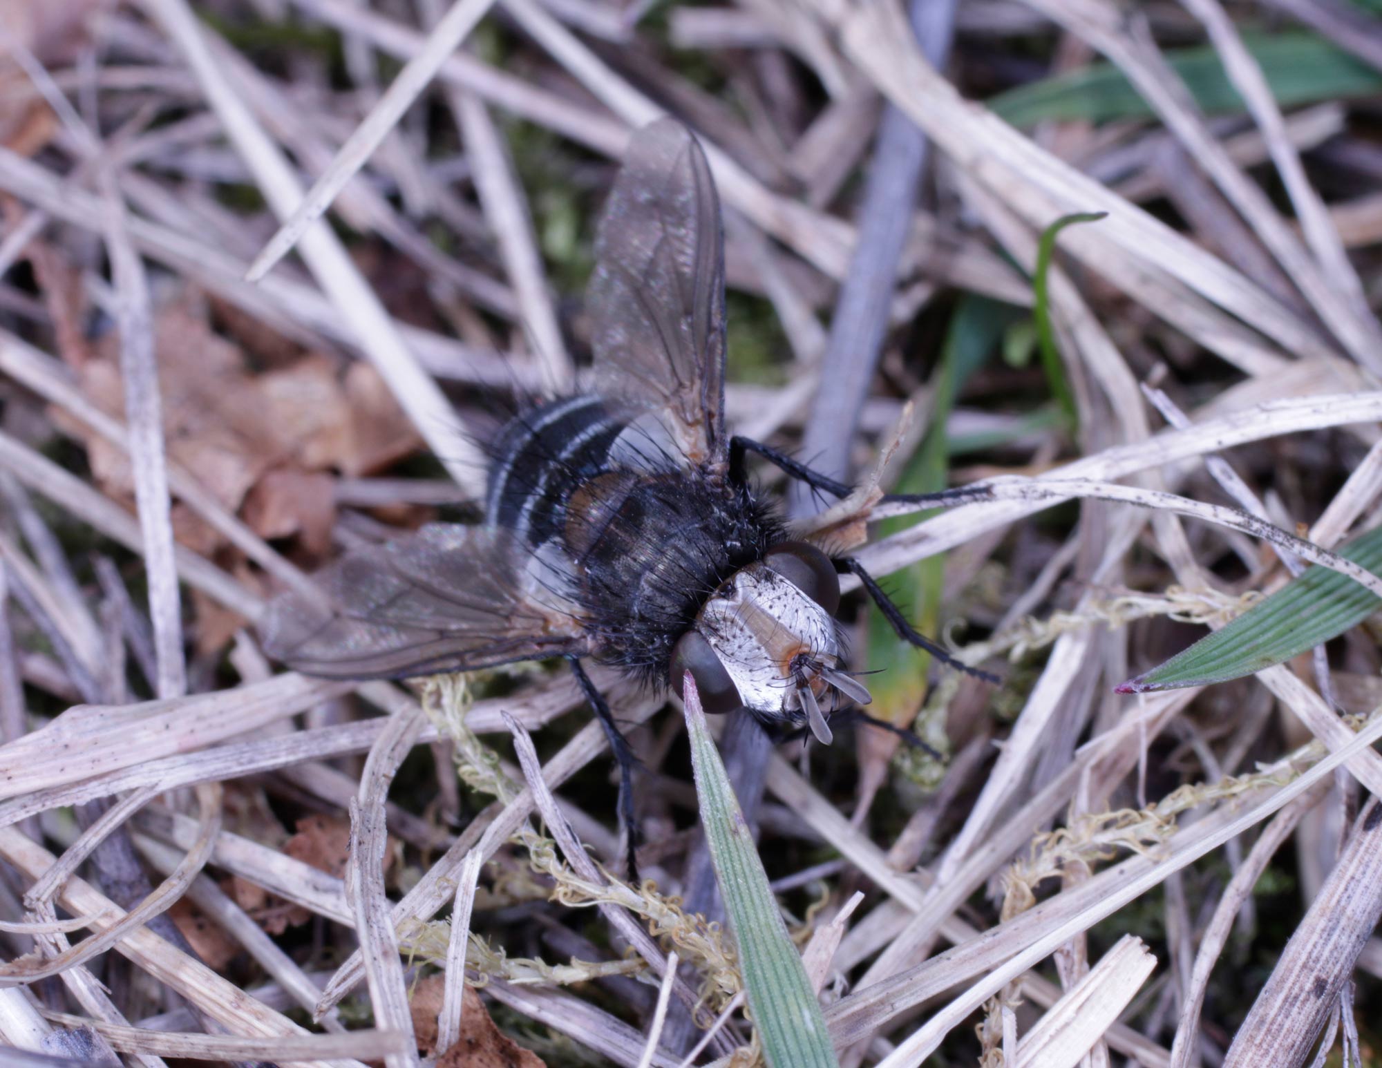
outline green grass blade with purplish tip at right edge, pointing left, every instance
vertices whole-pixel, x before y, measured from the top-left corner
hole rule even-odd
[[[1382,575],[1382,526],[1339,549]],[[1382,600],[1328,568],[1307,568],[1222,630],[1208,634],[1164,665],[1129,678],[1119,694],[1201,687],[1260,671],[1336,638],[1382,608]]]

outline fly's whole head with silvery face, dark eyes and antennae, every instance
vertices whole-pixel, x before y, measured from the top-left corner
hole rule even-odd
[[[869,692],[840,670],[833,613],[835,565],[815,546],[784,542],[739,569],[697,616],[672,652],[670,683],[691,671],[706,712],[746,707],[766,723],[806,724],[822,745],[831,728],[821,703],[860,705]]]

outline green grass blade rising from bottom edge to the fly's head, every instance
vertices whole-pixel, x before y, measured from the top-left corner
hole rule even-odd
[[[685,714],[701,826],[739,951],[739,973],[763,1056],[770,1068],[837,1068],[821,1003],[788,937],[753,835],[744,822],[714,739],[706,731],[701,698],[690,674],[685,677]]]

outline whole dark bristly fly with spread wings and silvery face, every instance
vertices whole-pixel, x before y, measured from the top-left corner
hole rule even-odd
[[[867,703],[844,674],[837,575],[854,572],[898,634],[933,649],[851,558],[791,540],[755,499],[745,453],[835,495],[849,486],[724,426],[724,246],[701,146],[663,119],[632,141],[596,242],[587,394],[515,417],[493,448],[482,526],[435,524],[352,551],[322,595],[276,600],[265,651],[315,676],[464,671],[589,656],[680,692],[690,670],[708,712],[831,741],[826,710]],[[824,705],[824,707],[822,707]]]

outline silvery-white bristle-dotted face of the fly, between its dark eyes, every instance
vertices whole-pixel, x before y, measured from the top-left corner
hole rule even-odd
[[[799,721],[796,677],[802,665],[835,667],[840,658],[829,612],[761,562],[741,568],[716,590],[701,609],[697,629],[734,680],[745,707],[763,718]]]

